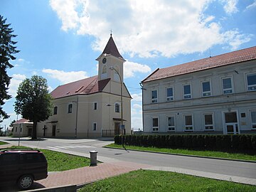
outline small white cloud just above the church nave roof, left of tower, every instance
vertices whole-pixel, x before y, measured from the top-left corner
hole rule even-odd
[[[52,69],[43,69],[42,71],[43,73],[48,74],[50,78],[57,79],[63,84],[68,82],[73,82],[75,80],[88,78],[85,71],[65,72],[63,70],[52,70]]]

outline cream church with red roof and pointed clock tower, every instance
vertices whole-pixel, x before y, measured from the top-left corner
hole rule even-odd
[[[50,93],[53,115],[38,122],[38,137],[130,134],[132,97],[124,85],[125,60],[112,34],[96,60],[98,75],[60,85]]]

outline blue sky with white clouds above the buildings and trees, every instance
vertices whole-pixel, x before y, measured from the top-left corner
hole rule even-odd
[[[256,0],[0,0],[0,15],[18,35],[9,127],[16,90],[41,75],[49,90],[97,75],[95,60],[110,31],[123,58],[124,83],[132,95],[132,128],[142,129],[139,82],[156,68],[256,46]],[[18,116],[20,119],[21,116]]]

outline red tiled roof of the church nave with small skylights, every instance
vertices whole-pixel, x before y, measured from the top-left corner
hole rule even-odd
[[[102,92],[109,81],[110,79],[99,81],[98,76],[96,75],[91,78],[85,78],[83,80],[60,85],[50,92],[50,95],[52,95],[54,99],[71,95],[90,95],[92,93]]]

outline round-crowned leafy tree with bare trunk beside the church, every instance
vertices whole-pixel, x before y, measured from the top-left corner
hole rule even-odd
[[[18,86],[14,109],[23,118],[33,122],[32,139],[37,139],[37,123],[48,119],[53,111],[47,80],[38,75],[23,80]]]

